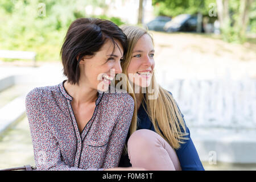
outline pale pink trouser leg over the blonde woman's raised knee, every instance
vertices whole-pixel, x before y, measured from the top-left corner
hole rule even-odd
[[[151,130],[137,130],[128,140],[128,155],[133,167],[152,171],[181,170],[175,150]]]

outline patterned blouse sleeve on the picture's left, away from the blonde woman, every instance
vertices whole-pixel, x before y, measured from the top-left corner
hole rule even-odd
[[[59,143],[47,125],[46,119],[44,119],[42,96],[43,90],[36,88],[28,93],[26,97],[26,112],[37,170],[97,170],[65,165],[61,159]]]

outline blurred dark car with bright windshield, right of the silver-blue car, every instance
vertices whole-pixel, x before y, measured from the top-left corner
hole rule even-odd
[[[202,24],[201,32],[203,30]],[[171,21],[167,22],[164,26],[164,31],[166,32],[196,32],[197,28],[197,16],[189,15],[189,14],[181,14],[177,15]]]

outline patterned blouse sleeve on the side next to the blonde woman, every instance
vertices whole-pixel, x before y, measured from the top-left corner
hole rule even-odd
[[[119,115],[119,119],[115,123],[112,134],[110,135],[103,168],[118,167],[134,111],[134,100],[131,96],[127,96],[129,100],[123,101],[123,111]]]

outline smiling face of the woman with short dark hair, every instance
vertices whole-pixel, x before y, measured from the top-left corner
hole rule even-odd
[[[94,56],[85,56],[80,61],[80,80],[92,89],[106,91],[115,74],[122,73],[120,61],[123,59],[123,48],[118,40],[106,43]],[[114,51],[113,51],[114,50]]]

